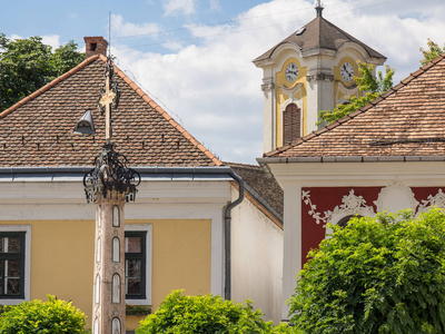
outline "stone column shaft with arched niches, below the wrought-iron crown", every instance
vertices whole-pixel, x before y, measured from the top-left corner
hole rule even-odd
[[[98,194],[93,283],[93,334],[125,333],[125,229],[126,195]]]

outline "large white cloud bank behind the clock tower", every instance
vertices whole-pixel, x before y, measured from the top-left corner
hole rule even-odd
[[[406,1],[409,8],[404,8],[403,16],[385,4],[357,10],[366,3],[330,8],[325,1],[324,17],[387,56],[400,80],[418,68],[418,48],[426,38],[443,46],[441,32],[445,31],[434,10],[423,11],[414,0]],[[171,6],[170,13],[184,12],[184,7],[175,9],[179,2],[187,1],[166,2]],[[274,0],[239,14],[231,26],[189,26],[199,42],[170,42],[168,55],[131,49],[115,53],[122,69],[131,69],[138,81],[221,159],[255,163],[263,155],[263,72],[251,60],[314,18],[313,1]]]

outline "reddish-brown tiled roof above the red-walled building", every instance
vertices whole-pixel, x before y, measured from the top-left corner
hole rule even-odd
[[[445,156],[445,53],[362,109],[264,156]]]

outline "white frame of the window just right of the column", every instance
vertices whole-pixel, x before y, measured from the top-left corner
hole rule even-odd
[[[130,305],[151,305],[151,267],[152,267],[152,224],[126,224],[126,232],[147,232],[146,239],[146,298],[126,299]]]

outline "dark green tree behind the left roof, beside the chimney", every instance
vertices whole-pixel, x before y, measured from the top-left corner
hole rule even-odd
[[[85,59],[73,41],[52,52],[40,37],[9,40],[0,33],[0,111]]]

